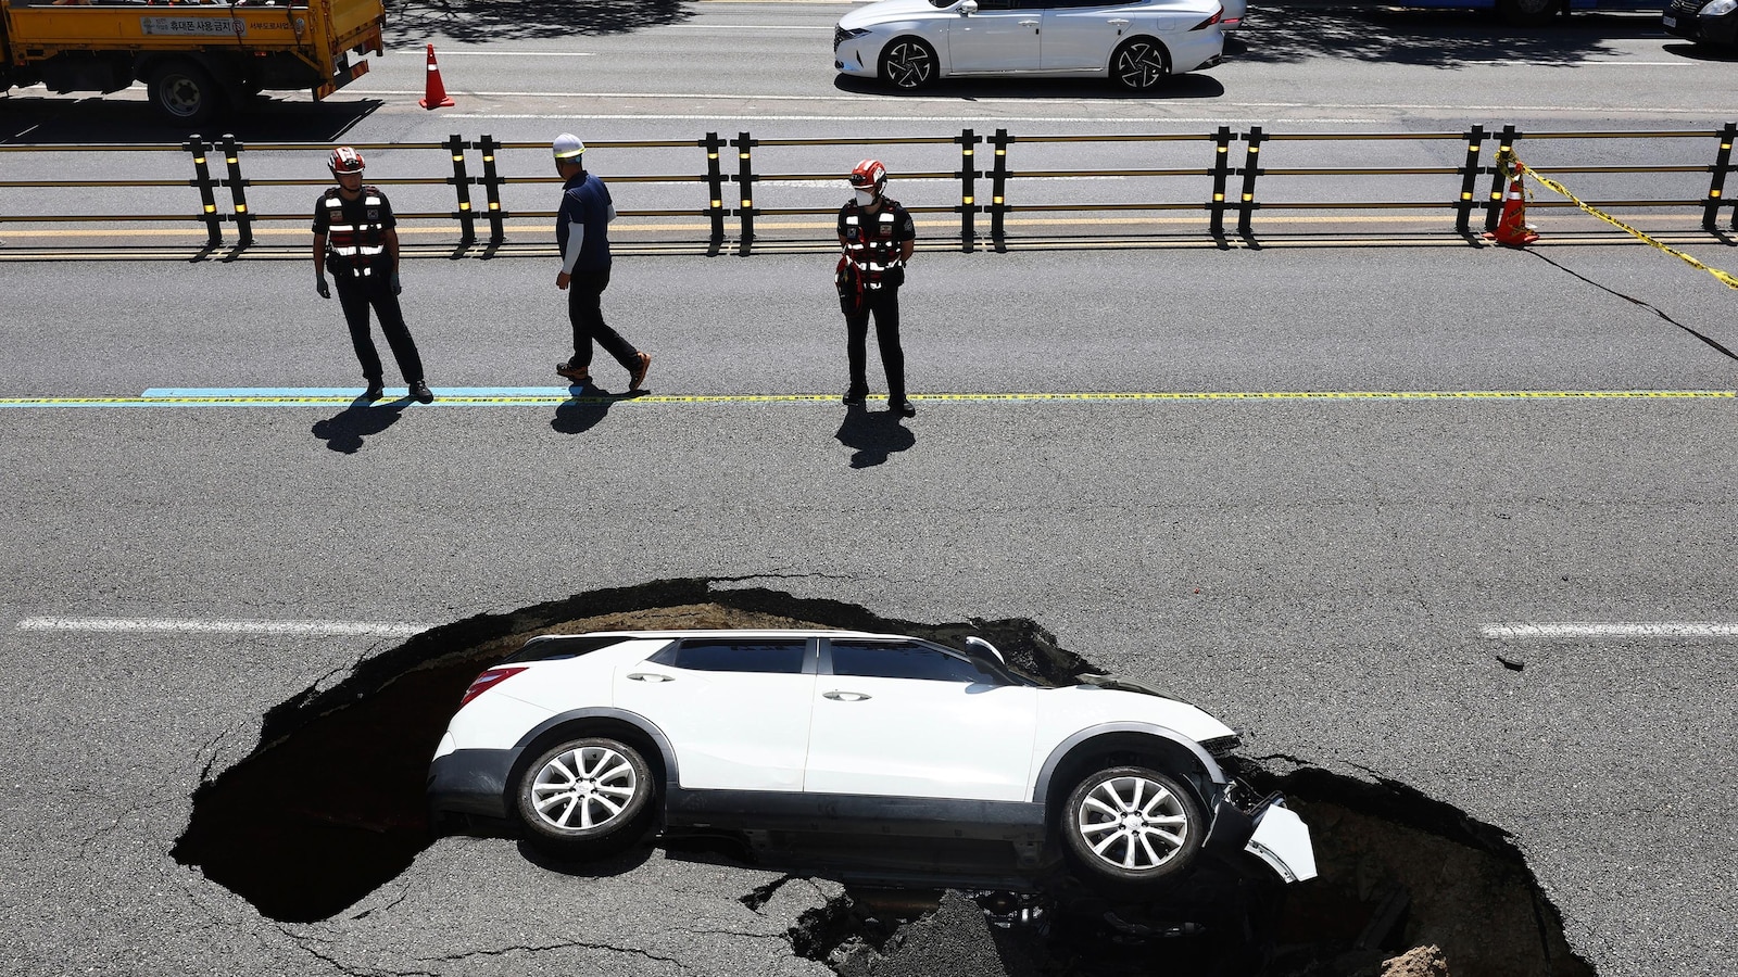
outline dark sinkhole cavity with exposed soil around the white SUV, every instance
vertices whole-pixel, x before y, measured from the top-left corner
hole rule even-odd
[[[1088,671],[1031,621],[919,624],[768,589],[713,589],[707,581],[593,591],[419,635],[339,685],[275,708],[261,746],[196,791],[174,855],[266,916],[325,920],[433,843],[422,791],[447,720],[469,681],[528,636],[815,626],[944,641],[975,633],[1027,671],[1058,680]],[[1171,970],[1161,960],[1208,974],[1361,975],[1382,974],[1383,960],[1415,947],[1408,974],[1592,975],[1502,831],[1403,784],[1350,781],[1290,758],[1236,767],[1257,788],[1291,798],[1312,827],[1321,867],[1321,878],[1293,887],[1283,902],[1250,913],[1243,932],[1175,934],[1126,911],[1112,923],[1102,906],[1039,906],[1029,923],[1003,928],[959,894],[933,909],[921,901],[914,909],[911,899],[888,909],[881,894],[846,890],[793,930],[793,947],[853,975],[921,972],[911,967],[932,944],[959,939],[994,951],[1010,975]],[[1436,958],[1429,946],[1439,947]],[[1430,960],[1446,960],[1446,968]]]

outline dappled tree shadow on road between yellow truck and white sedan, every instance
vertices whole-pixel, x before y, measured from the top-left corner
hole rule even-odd
[[[388,37],[421,43],[614,35],[676,24],[693,16],[683,0],[391,0]]]

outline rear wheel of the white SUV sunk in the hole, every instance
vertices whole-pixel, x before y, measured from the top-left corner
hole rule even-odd
[[[579,737],[532,760],[513,793],[534,841],[563,855],[607,855],[645,838],[657,786],[633,746]]]

